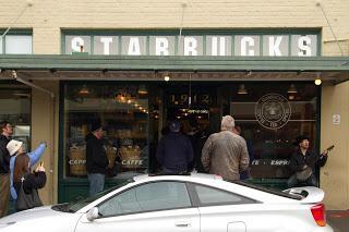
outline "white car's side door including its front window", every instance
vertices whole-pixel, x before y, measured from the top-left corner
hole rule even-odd
[[[99,217],[84,215],[76,232],[200,232],[198,209],[182,182],[152,182],[129,188],[97,206]]]

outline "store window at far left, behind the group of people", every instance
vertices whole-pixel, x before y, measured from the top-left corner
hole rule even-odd
[[[13,125],[13,139],[22,141],[31,149],[31,89],[23,86],[0,85],[0,121]]]

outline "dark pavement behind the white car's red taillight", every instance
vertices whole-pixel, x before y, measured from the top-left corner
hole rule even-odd
[[[327,210],[327,223],[335,232],[349,231],[349,210]]]

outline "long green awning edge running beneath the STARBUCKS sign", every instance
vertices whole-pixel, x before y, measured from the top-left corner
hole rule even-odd
[[[349,57],[157,57],[1,54],[1,70],[349,71]]]

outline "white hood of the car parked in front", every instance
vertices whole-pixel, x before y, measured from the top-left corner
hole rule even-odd
[[[51,206],[20,211],[0,219],[1,232],[12,231],[74,231],[81,213],[61,212]]]

